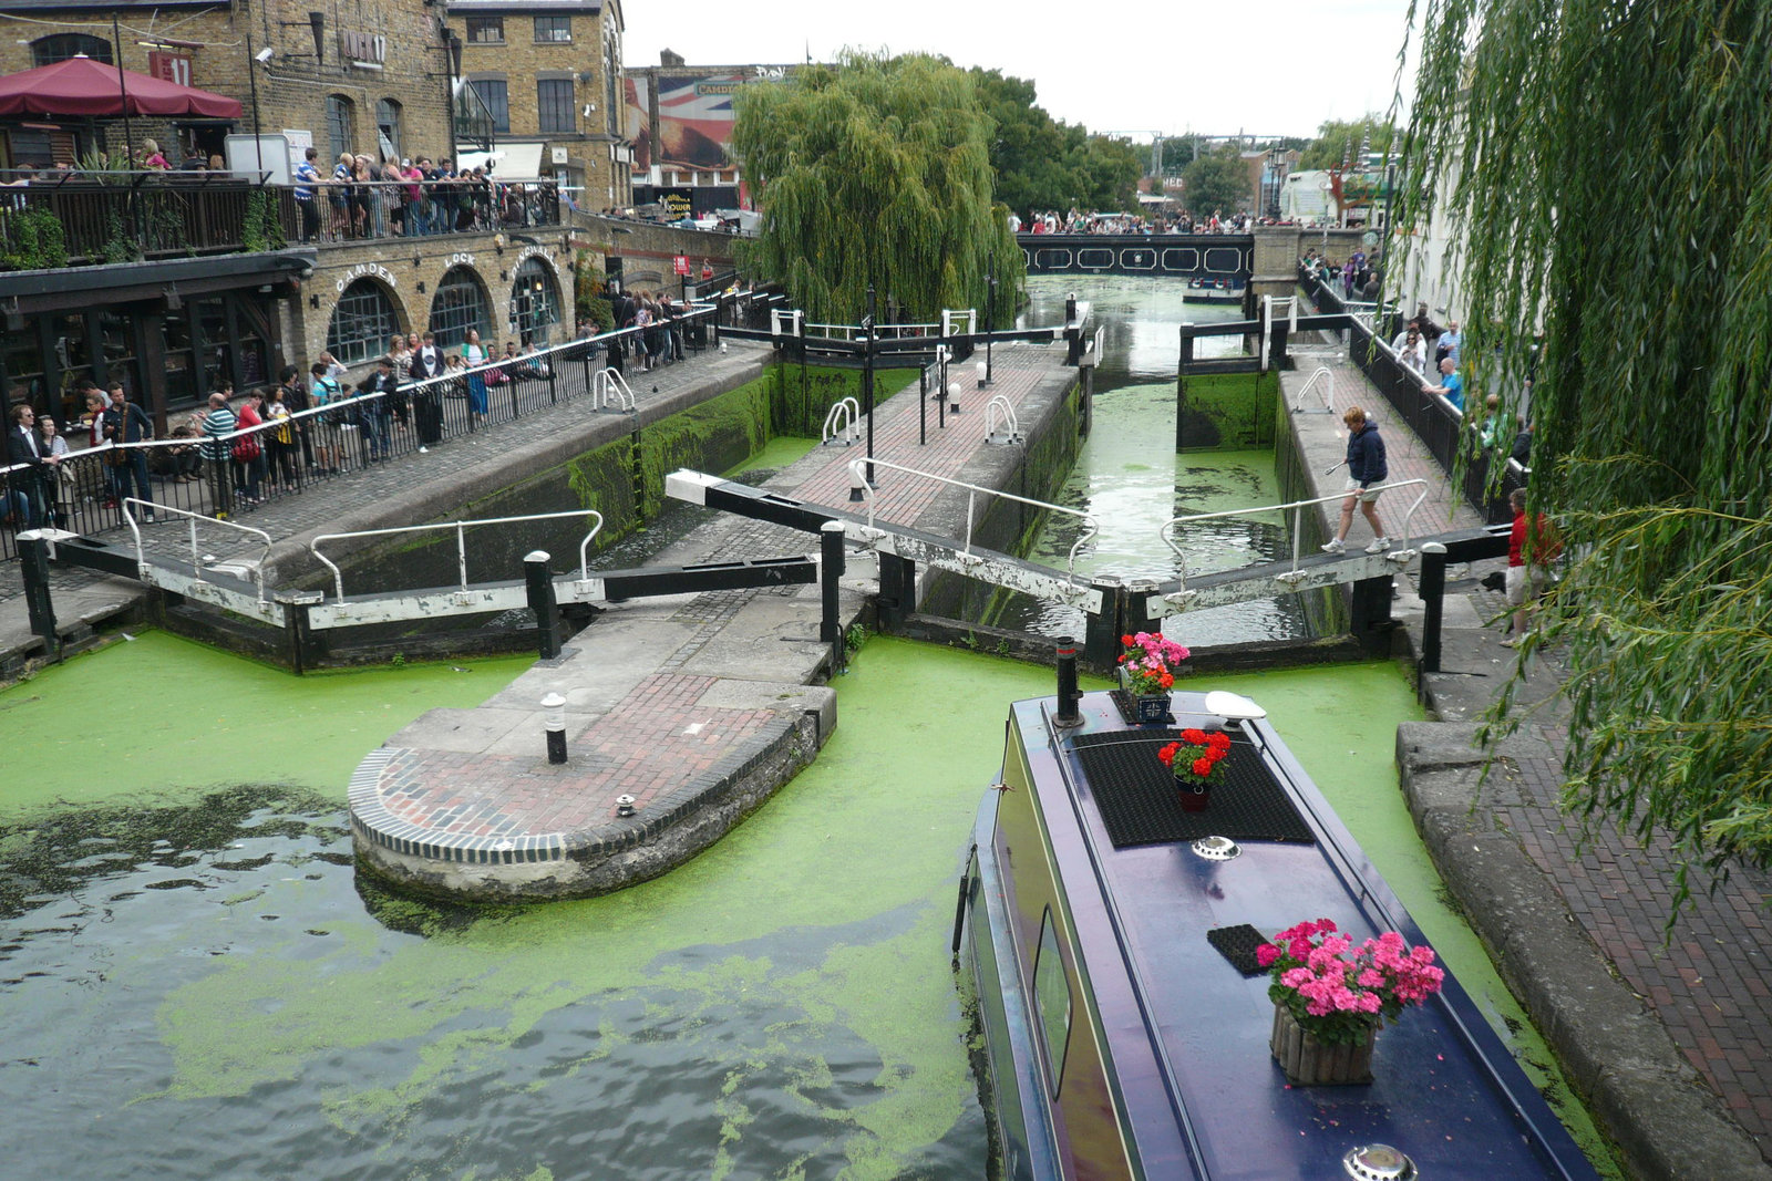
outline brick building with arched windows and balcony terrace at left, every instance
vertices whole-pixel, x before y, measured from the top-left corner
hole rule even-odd
[[[243,110],[239,119],[135,117],[128,133],[119,119],[0,120],[5,168],[85,161],[122,151],[126,138],[135,147],[158,140],[174,165],[195,151],[234,168],[156,174],[133,186],[11,174],[25,184],[0,207],[9,402],[66,414],[78,411],[82,381],[120,379],[165,421],[223,381],[262,384],[284,365],[307,368],[323,349],[361,374],[395,331],[455,342],[473,328],[489,343],[546,343],[571,322],[572,267],[551,186],[494,189],[475,216],[425,235],[299,243],[296,191],[282,181],[308,145],[330,174],[346,151],[377,163],[445,159],[457,140],[478,149],[491,138],[473,92],[454,89],[461,64],[450,34],[461,30],[447,28],[439,5],[0,0],[0,73],[83,53],[225,94]],[[452,92],[470,99],[455,119]],[[271,174],[262,189],[260,161]],[[243,228],[252,202],[275,211],[282,232],[273,241]],[[21,248],[30,218],[64,227],[60,266],[44,269]]]

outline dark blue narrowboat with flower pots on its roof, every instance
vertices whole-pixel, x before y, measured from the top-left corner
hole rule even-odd
[[[1139,722],[1065,662],[1060,696],[1010,708],[955,919],[998,1176],[1597,1177],[1451,972],[1379,1032],[1370,1082],[1288,1082],[1247,940],[1425,937],[1256,703],[1175,692]],[[1184,729],[1232,740],[1205,811],[1157,758]]]

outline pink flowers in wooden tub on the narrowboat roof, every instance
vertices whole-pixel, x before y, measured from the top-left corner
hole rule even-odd
[[[1379,1027],[1441,990],[1432,947],[1396,931],[1356,944],[1331,919],[1299,922],[1255,949],[1269,970],[1274,1061],[1297,1084],[1372,1082]]]

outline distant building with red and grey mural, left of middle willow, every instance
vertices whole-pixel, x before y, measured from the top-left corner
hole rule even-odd
[[[627,69],[634,204],[659,204],[672,218],[751,209],[732,159],[732,99],[744,85],[778,81],[796,67],[686,66],[670,50],[659,60]]]

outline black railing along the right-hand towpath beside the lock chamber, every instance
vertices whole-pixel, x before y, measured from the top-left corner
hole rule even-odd
[[[1318,282],[1302,267],[1299,283],[1324,313],[1345,312],[1347,303],[1331,290],[1331,285]],[[1396,319],[1396,317],[1389,317]],[[1403,363],[1396,352],[1366,328],[1359,317],[1352,317],[1348,328],[1348,358],[1366,374],[1366,381],[1384,395],[1391,411],[1396,413],[1416,437],[1428,448],[1441,469],[1448,476],[1460,475],[1458,460],[1464,453],[1462,487],[1465,503],[1483,513],[1488,524],[1512,521],[1508,494],[1526,485],[1526,469],[1508,457],[1513,444],[1513,432],[1497,425],[1488,446],[1483,446],[1480,427],[1465,414],[1453,409],[1451,402],[1441,395],[1423,390],[1426,375],[1418,374]],[[1473,395],[1465,395],[1473,397]],[[1499,483],[1490,478],[1501,464]]]

